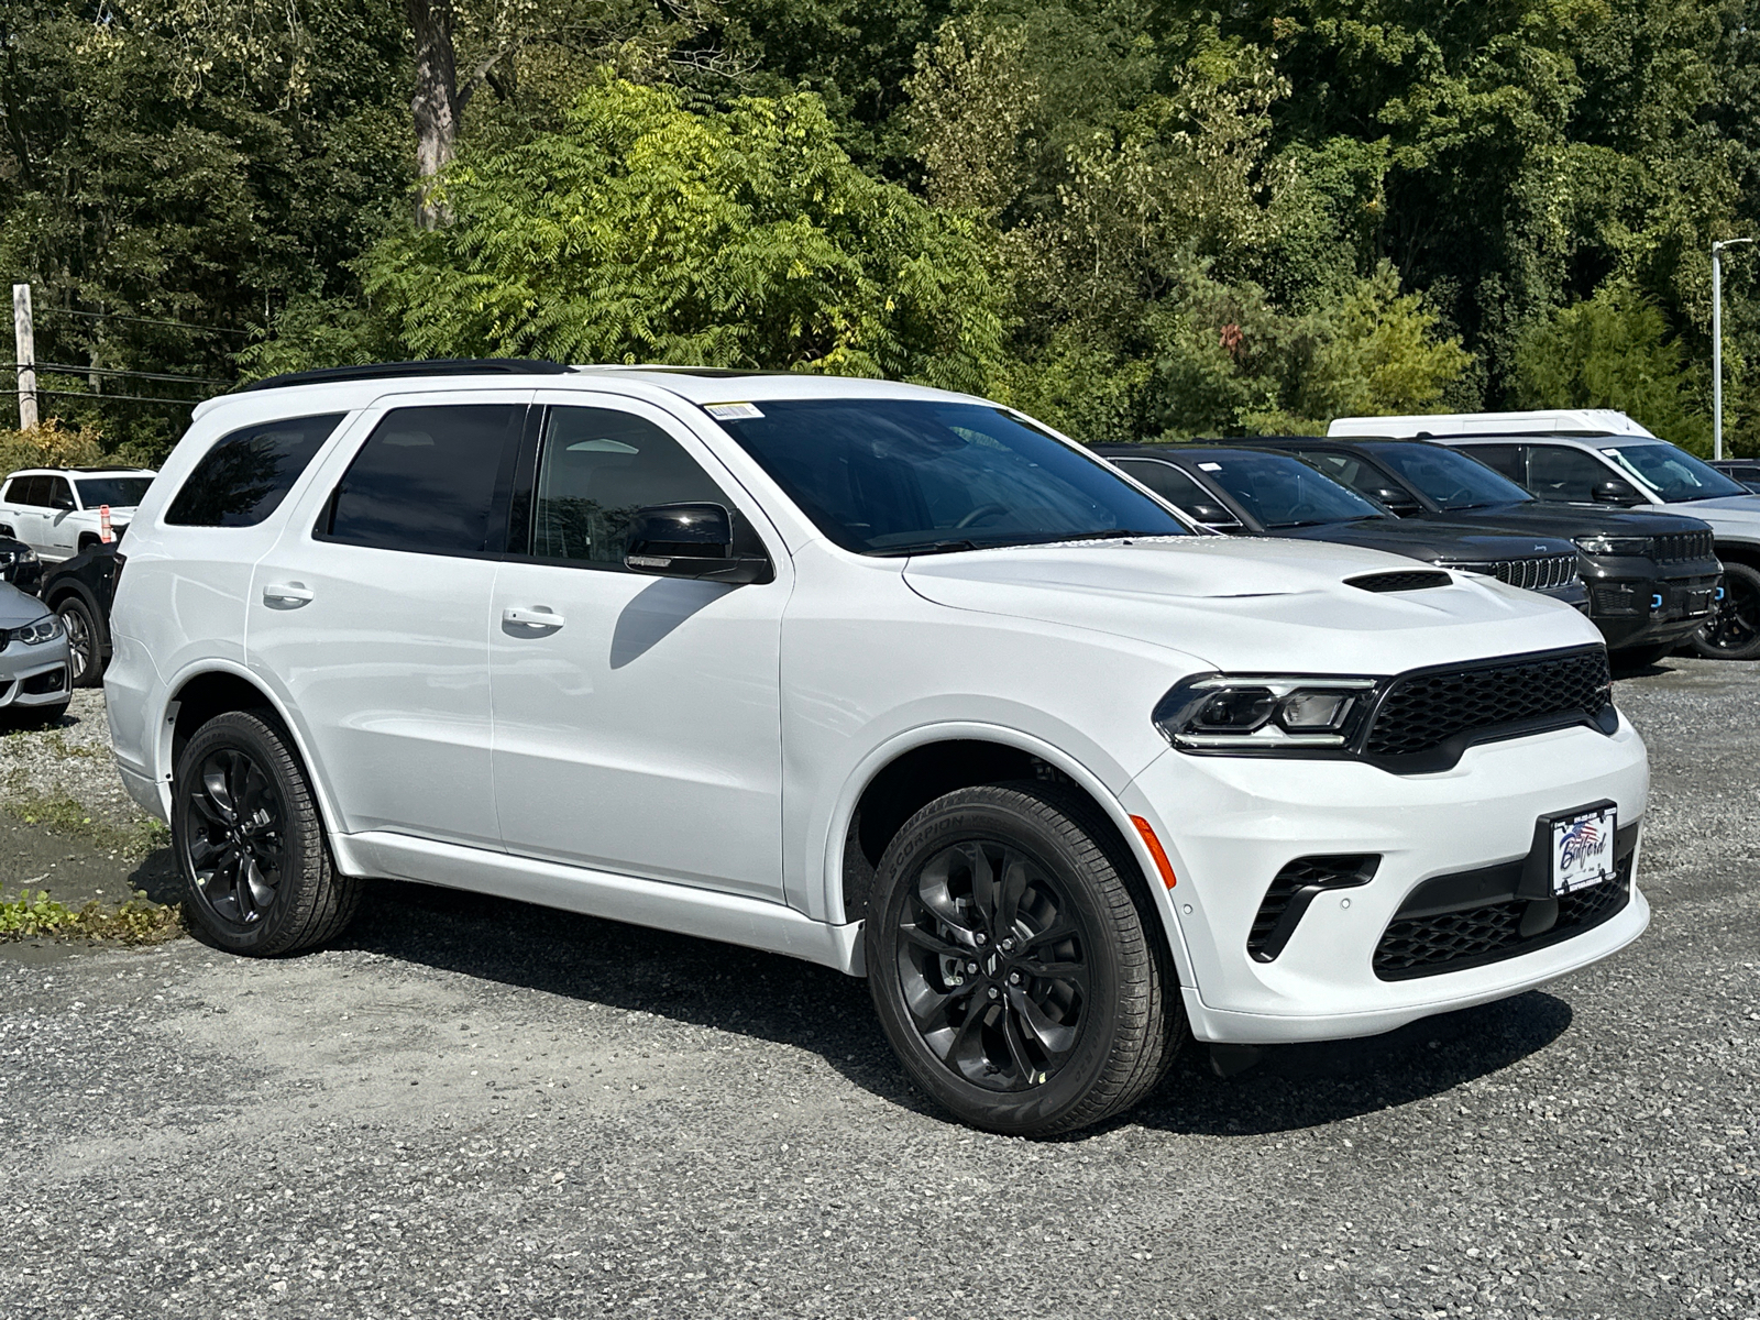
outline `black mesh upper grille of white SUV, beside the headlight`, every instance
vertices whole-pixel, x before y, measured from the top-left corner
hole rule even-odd
[[[1461,736],[1556,720],[1596,720],[1610,704],[1607,651],[1595,648],[1531,660],[1429,671],[1396,678],[1375,711],[1364,753],[1412,757]]]

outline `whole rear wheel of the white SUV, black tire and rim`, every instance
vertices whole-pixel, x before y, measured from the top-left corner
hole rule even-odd
[[[248,711],[218,715],[178,759],[171,847],[185,913],[220,949],[273,957],[334,938],[361,882],[338,875],[306,774],[285,736]]]

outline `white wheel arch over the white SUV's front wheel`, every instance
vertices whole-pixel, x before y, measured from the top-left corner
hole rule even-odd
[[[1061,748],[1000,725],[913,729],[889,739],[857,766],[825,841],[827,912],[845,924],[866,917],[880,854],[917,810],[956,788],[1023,778],[1065,785],[1086,797],[1111,825],[1111,841],[1135,861],[1140,894],[1162,919],[1181,984],[1193,984],[1184,938],[1165,898],[1158,862],[1118,794]]]

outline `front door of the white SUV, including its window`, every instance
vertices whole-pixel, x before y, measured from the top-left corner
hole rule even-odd
[[[540,394],[540,403],[544,396]],[[766,584],[623,567],[628,517],[755,507],[658,408],[553,398],[495,581],[495,801],[509,852],[781,901],[780,628]],[[524,475],[530,472],[530,475]]]

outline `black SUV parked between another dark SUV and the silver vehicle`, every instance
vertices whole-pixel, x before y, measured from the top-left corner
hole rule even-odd
[[[1589,586],[1589,618],[1621,665],[1661,658],[1716,611],[1723,565],[1711,524],[1697,517],[1542,503],[1478,459],[1429,440],[1281,435],[1216,444],[1295,454],[1401,517],[1570,537]]]

